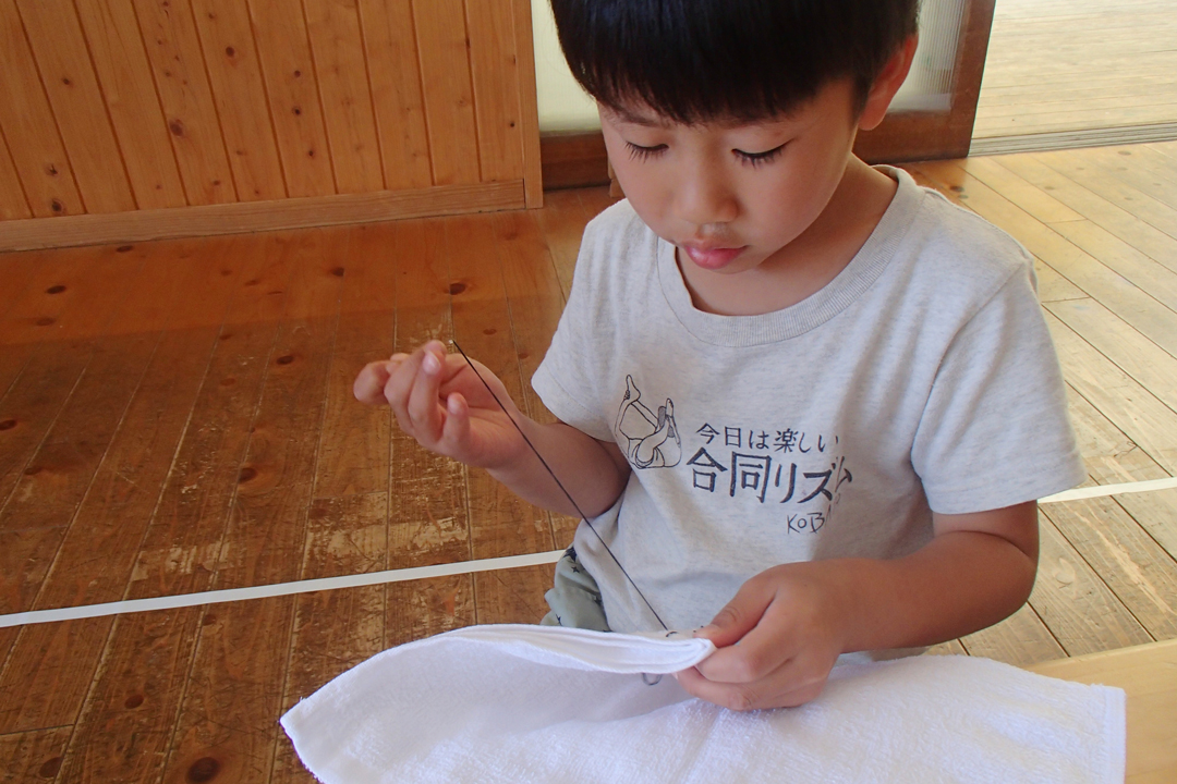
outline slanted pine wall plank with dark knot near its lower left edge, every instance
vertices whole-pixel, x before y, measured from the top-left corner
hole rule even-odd
[[[188,203],[237,201],[191,8],[179,0],[134,6]]]

